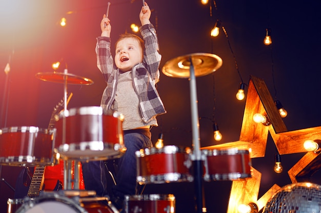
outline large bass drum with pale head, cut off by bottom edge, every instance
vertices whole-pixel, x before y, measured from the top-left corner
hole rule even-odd
[[[66,197],[58,193],[45,193],[35,199],[25,198],[15,213],[119,213],[106,197]]]

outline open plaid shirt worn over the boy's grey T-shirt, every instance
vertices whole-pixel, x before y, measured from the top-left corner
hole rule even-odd
[[[153,116],[166,113],[162,100],[156,90],[156,83],[159,80],[159,63],[162,58],[158,53],[158,41],[156,31],[152,24],[144,25],[141,28],[145,43],[143,63],[132,68],[132,79],[135,92],[139,99],[139,109],[142,113],[142,120],[148,123]],[[97,67],[101,70],[107,87],[104,90],[101,106],[111,110],[115,100],[116,87],[119,69],[114,65],[110,52],[110,38],[98,37],[96,44]]]

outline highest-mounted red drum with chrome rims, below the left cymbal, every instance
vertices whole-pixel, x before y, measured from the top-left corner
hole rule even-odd
[[[115,112],[110,115],[96,106],[73,108],[66,114],[62,114],[56,123],[56,148],[63,158],[112,159],[120,157],[126,150],[121,114]]]

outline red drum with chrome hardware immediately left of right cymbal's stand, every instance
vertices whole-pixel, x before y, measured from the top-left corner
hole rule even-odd
[[[143,183],[164,183],[193,181],[190,173],[192,161],[190,148],[165,146],[136,151],[137,181]]]

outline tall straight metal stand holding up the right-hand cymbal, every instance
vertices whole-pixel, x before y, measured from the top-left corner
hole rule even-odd
[[[200,152],[199,141],[199,119],[197,108],[196,77],[192,57],[190,60],[190,101],[191,101],[191,118],[192,118],[192,142],[193,142],[193,160],[194,160],[194,183],[196,196],[196,212],[202,213],[203,208],[203,185],[202,185],[202,155]]]

